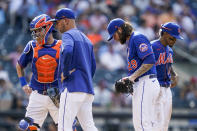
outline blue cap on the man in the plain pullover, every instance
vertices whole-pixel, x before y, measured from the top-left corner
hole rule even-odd
[[[51,21],[57,21],[64,18],[75,19],[75,13],[69,8],[62,8],[56,11],[55,19]]]

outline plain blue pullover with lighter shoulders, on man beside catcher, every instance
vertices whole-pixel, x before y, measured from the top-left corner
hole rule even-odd
[[[60,84],[60,91],[66,87],[69,92],[94,94],[93,76],[96,62],[90,40],[74,28],[62,34],[59,81],[63,73],[66,79]]]

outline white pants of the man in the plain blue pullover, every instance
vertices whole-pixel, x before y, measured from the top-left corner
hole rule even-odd
[[[58,131],[72,131],[77,116],[84,131],[98,131],[92,115],[94,96],[83,92],[68,92],[65,88],[60,97]]]

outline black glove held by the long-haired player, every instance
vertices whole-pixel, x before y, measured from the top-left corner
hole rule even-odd
[[[115,83],[115,90],[118,93],[133,93],[133,82],[129,79],[120,79]]]

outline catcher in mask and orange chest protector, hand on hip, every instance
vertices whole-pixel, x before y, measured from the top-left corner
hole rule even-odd
[[[29,97],[25,118],[19,128],[28,131],[40,130],[50,113],[55,124],[58,123],[58,108],[52,97],[58,96],[57,71],[61,41],[52,35],[51,18],[42,14],[30,23],[33,40],[29,41],[16,65],[17,74],[24,92]],[[25,80],[25,67],[31,63],[32,77],[30,84]]]

